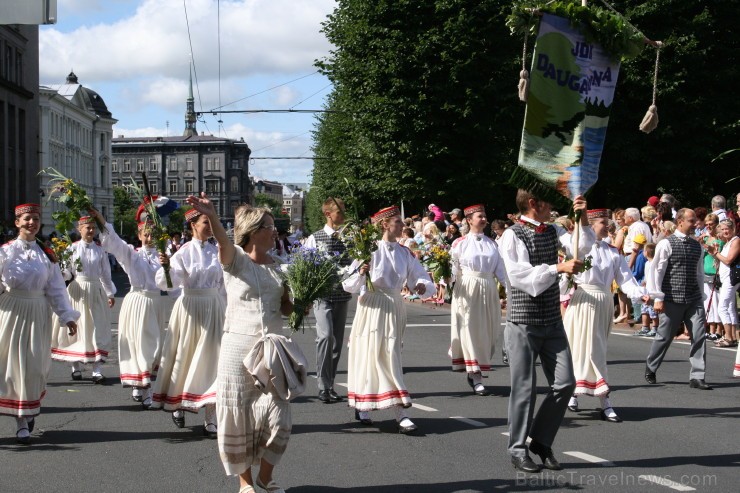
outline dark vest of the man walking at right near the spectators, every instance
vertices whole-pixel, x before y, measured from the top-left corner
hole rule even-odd
[[[667,238],[671,244],[671,256],[663,277],[661,291],[665,301],[672,303],[695,303],[702,299],[696,279],[696,265],[701,257],[701,245],[693,238],[679,238],[671,235]]]

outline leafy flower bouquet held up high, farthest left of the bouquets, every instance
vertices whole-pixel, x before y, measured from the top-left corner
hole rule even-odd
[[[55,168],[48,167],[41,170],[39,174],[50,177],[47,190],[48,198],[46,201],[50,202],[54,200],[66,208],[66,210],[53,212],[51,218],[54,219],[55,229],[65,235],[65,240],[71,243],[69,237],[66,235],[70,230],[75,228],[77,220],[87,215],[87,211],[92,209],[92,201],[81,186],[72,181],[71,178],[67,178],[61,174]],[[97,219],[95,222],[98,224],[98,229],[100,230],[105,226],[98,223]],[[61,259],[61,257],[59,258]]]

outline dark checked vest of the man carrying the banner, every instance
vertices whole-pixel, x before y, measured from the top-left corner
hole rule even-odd
[[[524,243],[532,266],[558,263],[558,234],[553,226],[542,233],[522,224],[511,227],[516,237]],[[550,325],[560,320],[560,288],[554,282],[539,296],[530,296],[521,289],[511,286],[511,303],[506,320],[517,324]]]

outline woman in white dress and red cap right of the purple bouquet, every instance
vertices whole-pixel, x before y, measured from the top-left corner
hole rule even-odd
[[[377,212],[372,221],[383,232],[370,265],[354,261],[350,271],[359,269],[342,284],[350,293],[359,293],[357,311],[352,322],[347,374],[348,404],[355,408],[355,418],[371,425],[369,411],[393,407],[401,433],[417,426],[409,419],[406,408],[411,397],[403,382],[401,346],[406,329],[406,308],[401,288],[408,282],[412,291],[422,295],[434,291],[434,283],[413,253],[398,244],[403,221],[398,207]],[[370,275],[374,290],[366,288]]]

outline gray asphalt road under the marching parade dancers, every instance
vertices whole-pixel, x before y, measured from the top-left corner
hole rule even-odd
[[[114,319],[119,307],[120,297]],[[500,355],[484,380],[493,394],[475,396],[464,374],[450,371],[449,308],[416,302],[407,309],[405,378],[419,433],[399,435],[391,411],[373,413],[375,425],[362,426],[345,404],[318,401],[311,382],[292,406],[293,435],[275,470],[283,487],[294,493],[737,490],[734,348],[708,349],[707,381],[715,389],[700,391],[688,387],[688,345],[675,341],[658,385],[649,386],[643,378],[649,339],[615,328],[610,383],[624,422],[600,421],[598,399],[582,398],[581,412],[568,412],[554,444],[565,470],[524,475],[506,452],[509,371]],[[296,339],[313,361],[312,330]],[[168,413],[143,411],[121,388],[115,353],[106,370],[108,383],[100,386],[89,380],[89,368],[83,381],[73,382],[66,365],[52,364],[31,446],[15,443],[15,421],[3,417],[0,492],[238,490],[236,478],[224,474],[215,440],[202,437],[202,412],[188,414],[186,427],[177,429]],[[346,355],[338,382],[346,382]],[[538,382],[543,394],[541,372]]]

